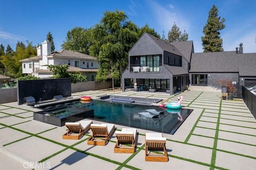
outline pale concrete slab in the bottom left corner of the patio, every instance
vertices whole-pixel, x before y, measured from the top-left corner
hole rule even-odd
[[[13,157],[8,156],[0,152],[0,169],[1,170],[28,170],[27,166],[23,166],[23,163],[15,160]]]

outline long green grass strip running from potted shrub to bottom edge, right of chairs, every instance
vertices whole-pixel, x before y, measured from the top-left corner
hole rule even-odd
[[[218,136],[219,136],[219,128],[220,128],[221,106],[222,106],[222,100],[220,100],[219,114],[218,114],[216,131],[215,131],[215,138],[214,138],[213,149],[212,149],[212,158],[211,158],[211,168],[210,168],[210,170],[214,170],[213,167],[215,166],[215,163],[216,163],[216,152],[217,152],[216,149],[217,149]]]

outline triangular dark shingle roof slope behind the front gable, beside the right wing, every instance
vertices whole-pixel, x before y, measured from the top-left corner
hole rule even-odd
[[[184,56],[186,61],[190,62],[191,53],[194,52],[193,41],[171,42]]]

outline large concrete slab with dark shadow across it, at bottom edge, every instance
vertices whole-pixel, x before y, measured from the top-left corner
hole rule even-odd
[[[68,149],[46,160],[54,170],[115,170],[119,165]]]

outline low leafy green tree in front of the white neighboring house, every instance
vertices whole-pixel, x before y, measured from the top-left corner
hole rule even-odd
[[[78,81],[85,81],[86,76],[82,75],[81,72],[76,73],[68,73],[68,67],[67,64],[62,65],[45,65],[47,66],[50,71],[53,72],[53,78],[71,78],[72,83],[77,83]]]

